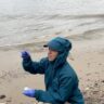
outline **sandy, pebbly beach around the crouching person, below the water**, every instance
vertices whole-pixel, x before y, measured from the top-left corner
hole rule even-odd
[[[104,30],[86,34],[86,37],[66,37],[73,43],[67,60],[78,75],[84,104],[104,104]],[[35,104],[35,99],[22,92],[24,87],[44,90],[43,75],[26,73],[22,67],[21,52],[26,49],[32,61],[39,61],[47,56],[48,50],[42,48],[44,42],[0,48],[0,103]]]

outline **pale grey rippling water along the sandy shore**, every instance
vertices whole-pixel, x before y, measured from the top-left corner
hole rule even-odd
[[[104,29],[104,0],[0,0],[0,47]]]

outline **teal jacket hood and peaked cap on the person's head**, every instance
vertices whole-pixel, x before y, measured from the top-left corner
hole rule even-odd
[[[51,50],[58,52],[58,55],[54,61],[54,68],[57,68],[66,62],[68,53],[72,49],[72,42],[68,39],[56,37],[43,47],[49,47]]]

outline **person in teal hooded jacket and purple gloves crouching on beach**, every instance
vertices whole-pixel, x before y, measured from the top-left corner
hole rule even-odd
[[[30,74],[44,74],[46,91],[37,89],[23,90],[23,94],[39,102],[50,104],[84,104],[78,88],[78,77],[67,62],[72,42],[56,37],[43,46],[49,48],[48,57],[34,62],[28,52],[23,51],[23,67]]]

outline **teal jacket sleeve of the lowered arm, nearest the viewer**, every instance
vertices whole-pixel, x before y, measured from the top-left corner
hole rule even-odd
[[[53,89],[49,91],[36,90],[35,98],[41,102],[48,102],[52,104],[64,104],[74,88],[74,80],[72,77],[63,77],[57,91]]]

